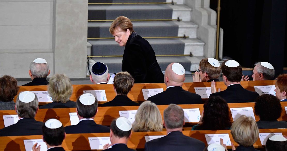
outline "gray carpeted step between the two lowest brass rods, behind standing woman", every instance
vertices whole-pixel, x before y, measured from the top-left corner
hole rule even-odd
[[[179,55],[184,53],[185,43],[180,39],[146,39],[156,55]],[[92,56],[123,55],[125,47],[120,47],[113,39],[89,40]]]

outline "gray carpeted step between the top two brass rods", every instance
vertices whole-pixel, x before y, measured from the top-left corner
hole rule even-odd
[[[116,19],[119,16],[129,19],[172,18],[172,8],[166,4],[89,5],[88,9],[88,20]]]

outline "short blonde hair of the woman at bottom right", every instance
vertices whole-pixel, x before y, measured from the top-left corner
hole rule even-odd
[[[258,139],[259,130],[251,116],[242,115],[232,123],[231,135],[236,143],[249,147]]]

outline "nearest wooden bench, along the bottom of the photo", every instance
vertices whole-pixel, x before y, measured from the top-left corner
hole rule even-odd
[[[260,129],[260,133],[275,133],[281,132],[287,135],[287,129]],[[204,134],[229,134],[231,142],[235,146],[238,144],[233,140],[230,130],[199,130],[199,131],[183,131],[183,134],[201,140],[207,145]],[[67,134],[66,139],[63,141],[63,148],[65,150],[91,150],[88,137],[109,137],[110,133],[88,133],[88,134]],[[129,148],[143,149],[146,143],[144,136],[166,135],[166,132],[133,132],[130,140],[127,143]],[[0,137],[0,148],[2,150],[25,150],[23,140],[42,139],[41,135],[32,136],[5,136]],[[255,148],[263,148],[260,139],[253,144]],[[231,146],[228,146],[231,148]]]

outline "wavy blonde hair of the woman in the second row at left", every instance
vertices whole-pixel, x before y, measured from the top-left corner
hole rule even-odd
[[[73,86],[65,74],[53,75],[48,84],[48,93],[53,102],[66,103],[72,95]]]

